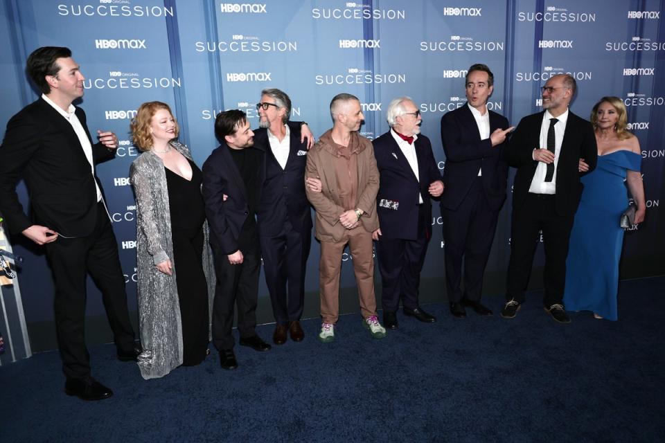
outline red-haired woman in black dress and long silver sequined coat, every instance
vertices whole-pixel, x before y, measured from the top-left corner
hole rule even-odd
[[[215,282],[201,195],[201,171],[168,105],[146,102],[132,120],[136,194],[139,323],[145,379],[208,353],[210,300]]]

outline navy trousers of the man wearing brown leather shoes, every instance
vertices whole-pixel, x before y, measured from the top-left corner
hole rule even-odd
[[[275,237],[260,237],[265,283],[278,325],[300,320],[305,305],[305,267],[312,231],[297,232],[286,220]]]

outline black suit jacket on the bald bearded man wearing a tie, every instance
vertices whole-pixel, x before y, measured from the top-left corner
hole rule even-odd
[[[540,146],[540,127],[544,111],[531,114],[520,120],[508,144],[508,163],[517,168],[513,186],[513,206],[519,208],[529,193],[531,180],[538,166],[533,160],[533,150]],[[578,170],[579,160],[585,159],[589,172],[596,168],[598,147],[594,129],[587,120],[568,111],[566,131],[561,144],[561,152],[556,171],[556,212],[571,215],[577,210],[582,195],[583,184]]]

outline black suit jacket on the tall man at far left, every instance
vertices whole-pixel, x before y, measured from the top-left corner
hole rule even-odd
[[[94,165],[112,159],[115,150],[92,143],[79,107],[76,116],[91,142]],[[32,221],[16,193],[21,177],[28,187]],[[95,181],[102,190],[76,132],[42,98],[9,120],[0,147],[0,213],[12,233],[40,224],[67,237],[89,235],[97,220]]]

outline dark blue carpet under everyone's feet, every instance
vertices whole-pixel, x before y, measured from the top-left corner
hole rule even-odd
[[[664,442],[664,288],[621,282],[618,322],[585,312],[560,325],[542,291],[513,320],[501,296],[485,298],[490,318],[427,305],[437,323],[399,314],[383,340],[354,314],[323,345],[305,320],[302,343],[236,346],[238,370],[213,350],[150,381],[99,345],[93,374],[115,395],[97,402],[64,395],[57,352],[44,352],[0,368],[0,442]]]

